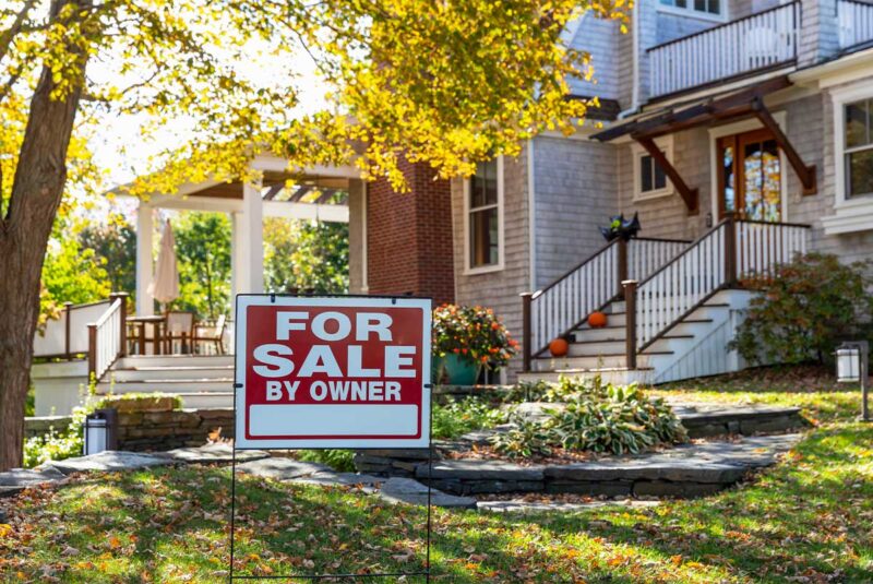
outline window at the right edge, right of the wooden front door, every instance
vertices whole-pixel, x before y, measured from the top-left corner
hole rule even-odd
[[[852,102],[844,108],[846,199],[873,194],[873,99]]]

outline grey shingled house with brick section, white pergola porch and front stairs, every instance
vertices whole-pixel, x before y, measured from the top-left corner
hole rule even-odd
[[[284,160],[262,157],[252,163],[262,184],[153,196],[137,219],[137,314],[152,306],[152,207],[231,213],[234,290],[253,293],[263,291],[260,218],[318,214],[349,222],[351,293],[493,308],[524,347],[504,379],[662,382],[744,366],[726,347],[753,294],[746,274],[806,250],[847,261],[873,252],[873,4],[639,0],[626,34],[585,14],[564,39],[591,52],[594,81],[572,90],[600,107],[576,134],[540,135],[469,179],[404,164],[412,193],[399,194],[350,167],[301,170],[299,189],[308,180],[347,192],[336,208],[301,203],[282,188]],[[641,237],[605,245],[599,227],[620,213],[638,214]],[[107,330],[120,310],[111,306],[97,323]],[[593,311],[608,314],[607,327],[585,324]],[[551,358],[558,336],[572,341],[570,354]],[[214,395],[227,392],[227,360],[124,357],[118,339],[104,345],[85,347],[107,355],[91,368],[99,391],[110,380],[115,391],[176,380],[191,404],[229,405]],[[86,379],[76,367],[41,394]],[[35,369],[38,410],[52,402],[40,402],[46,376]]]

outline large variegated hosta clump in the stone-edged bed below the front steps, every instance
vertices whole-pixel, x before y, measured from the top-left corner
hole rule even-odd
[[[513,416],[514,428],[492,438],[510,457],[548,455],[554,448],[574,451],[636,453],[656,444],[686,440],[685,429],[662,400],[650,400],[635,384],[618,386],[562,378],[540,396],[563,402],[545,420]]]

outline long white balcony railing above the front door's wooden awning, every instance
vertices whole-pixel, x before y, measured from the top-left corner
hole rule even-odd
[[[651,47],[650,95],[789,63],[797,58],[799,23],[800,2],[792,2]]]

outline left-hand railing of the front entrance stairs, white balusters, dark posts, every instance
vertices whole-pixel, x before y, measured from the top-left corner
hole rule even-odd
[[[634,238],[613,240],[546,288],[523,297],[525,370],[534,355],[567,335],[591,312],[621,294],[621,282],[645,278],[680,253],[690,241]]]

